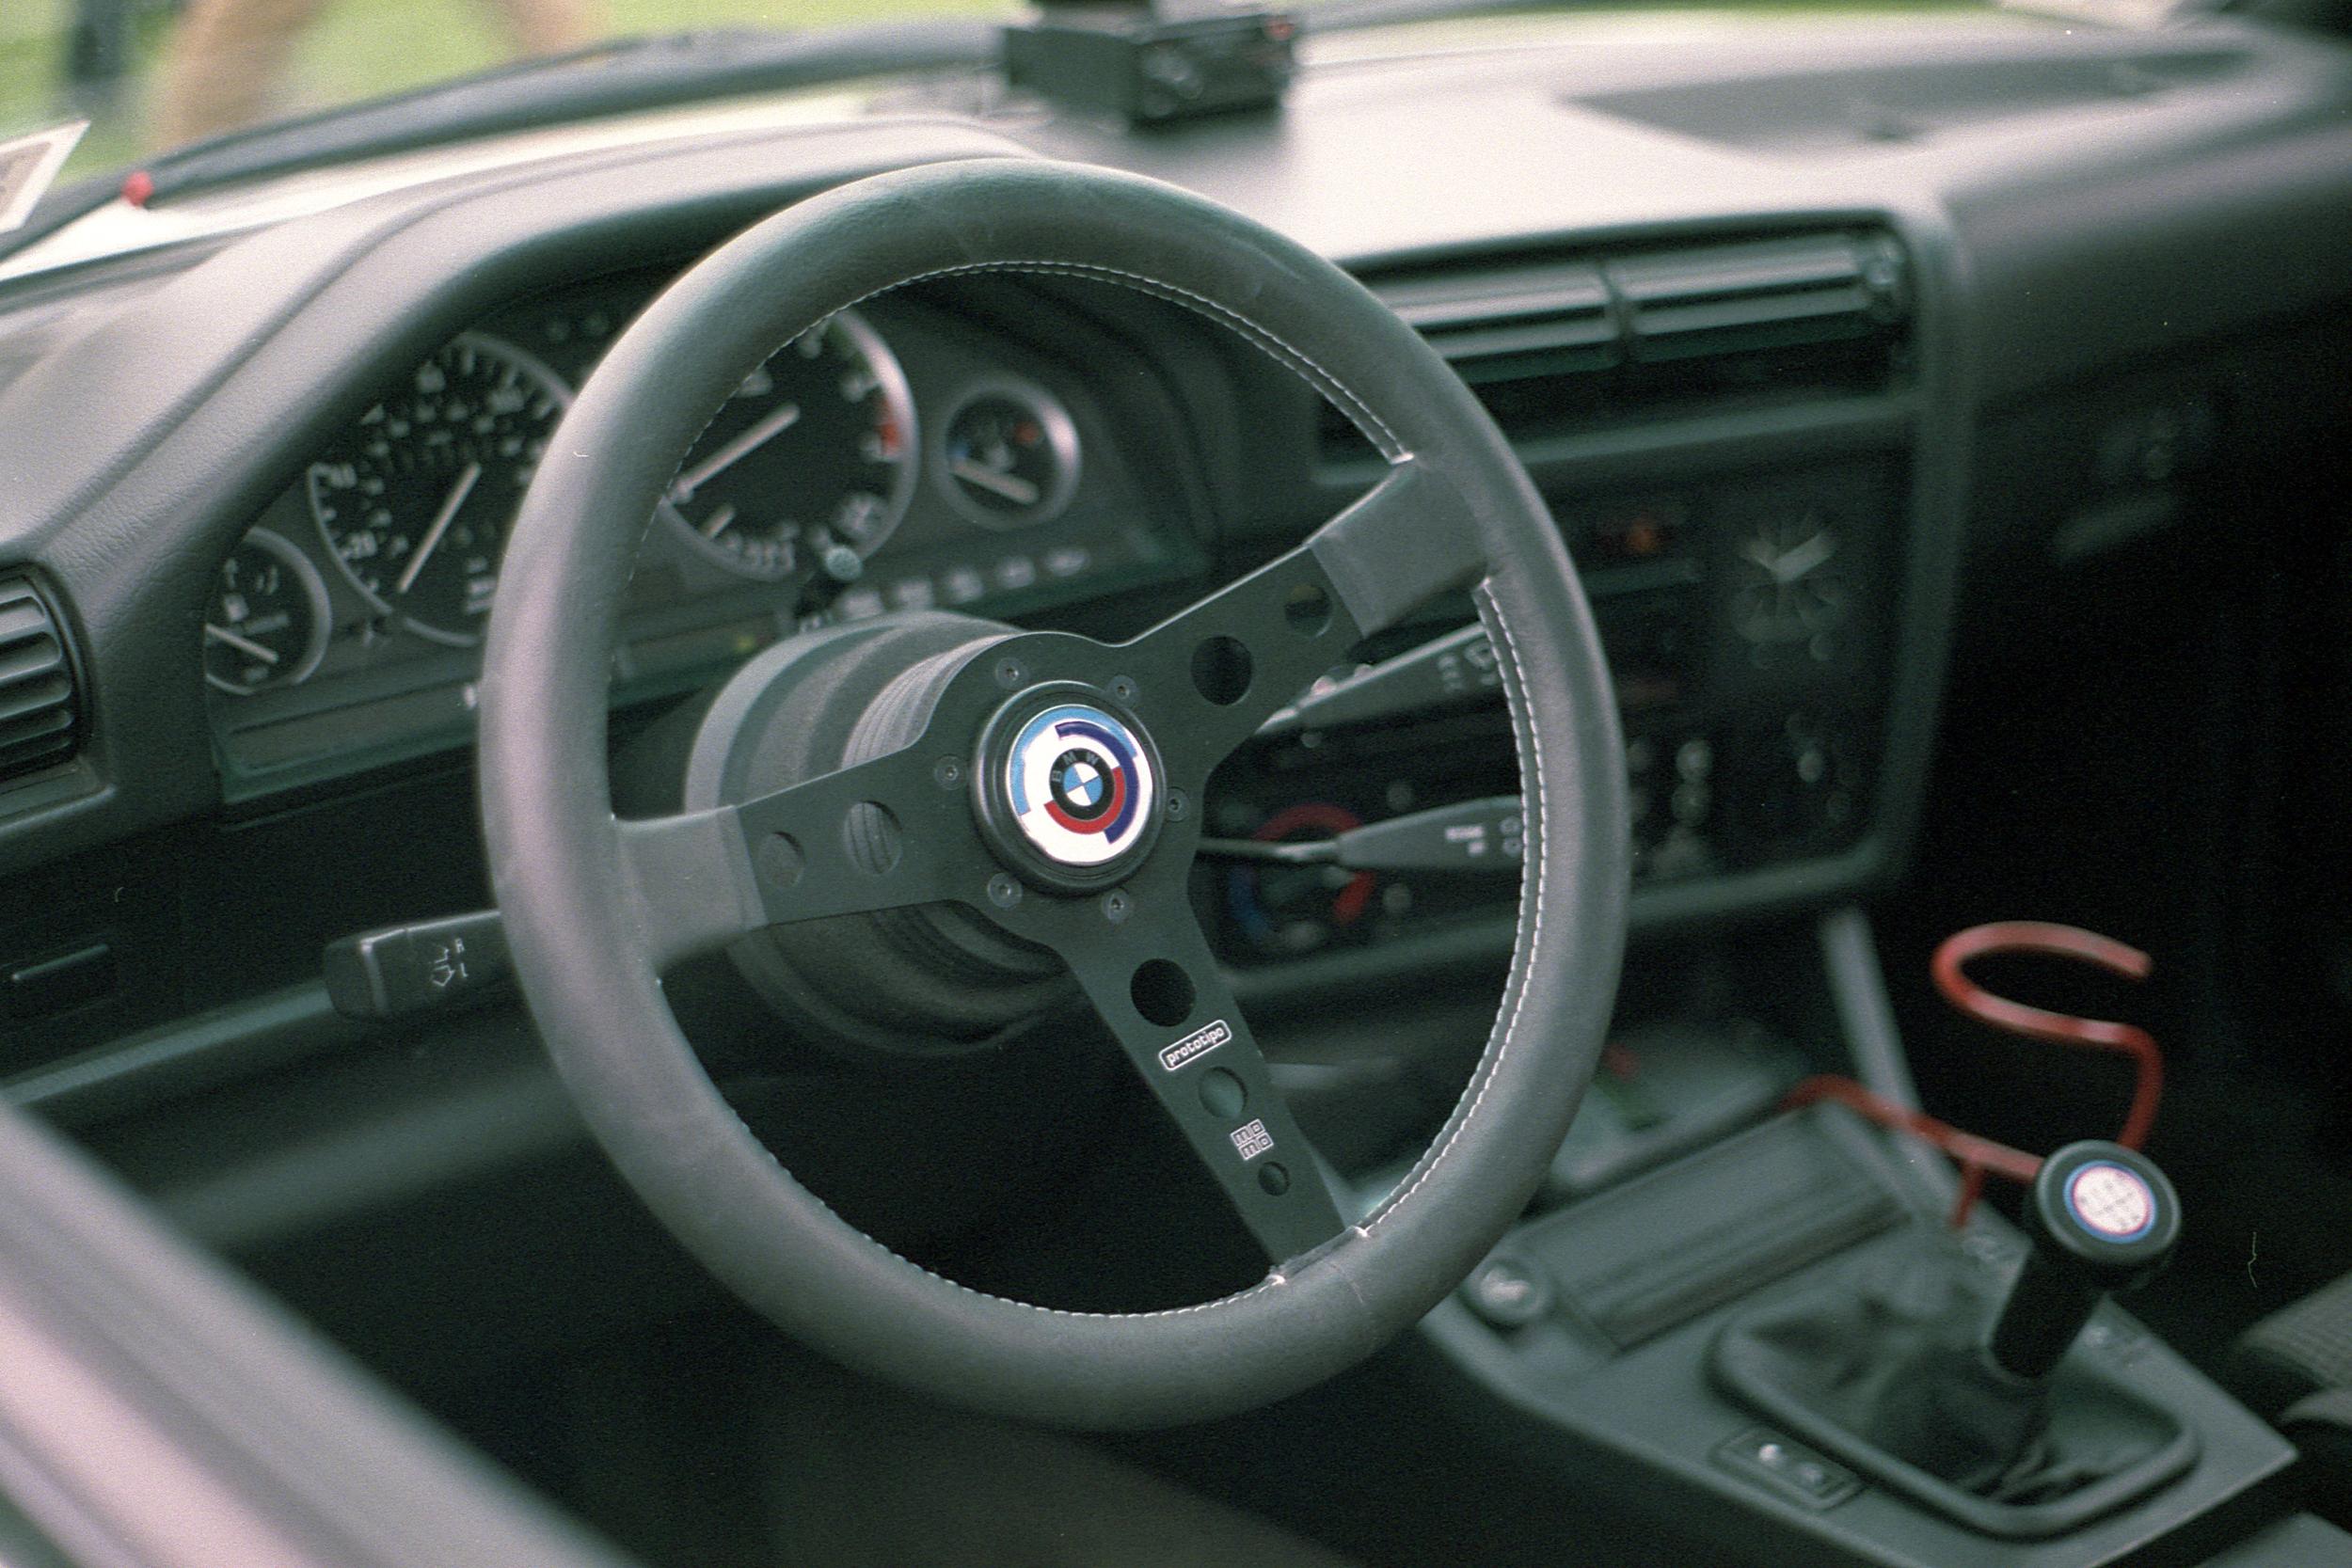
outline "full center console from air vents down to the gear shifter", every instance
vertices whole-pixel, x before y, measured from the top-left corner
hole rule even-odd
[[[2051,1265],[2049,1234],[1983,1204],[1952,1227],[1938,1157],[1839,1105],[1783,1110],[1806,1072],[1915,1103],[1842,905],[1900,870],[1950,621],[1969,418],[1931,249],[1849,230],[1374,280],[1552,505],[1616,677],[1632,818],[1618,1032],[1526,1218],[1425,1319],[1432,1387],[1465,1432],[1562,1486],[1616,1481],[1724,1561],[2204,1563],[2293,1537],[2277,1561],[2352,1563],[2352,1537],[2279,1502],[2293,1448]],[[1912,270],[1889,284],[1882,263]],[[1858,280],[1860,315],[1818,322],[1799,273]],[[1705,353],[1644,341],[1675,289],[1705,294],[1679,317]],[[1602,324],[1576,315],[1595,299]],[[1609,423],[1644,397],[1646,423]],[[1327,418],[1322,512],[1367,482],[1345,442]],[[1336,672],[1228,764],[1216,832],[1319,839],[1512,795],[1468,623],[1461,604],[1376,651],[1456,635],[1414,703]],[[1519,879],[1263,858],[1197,891],[1254,1004],[1395,1001],[1388,1034],[1350,1041],[1359,1065],[1411,1027],[1416,976],[1501,964]],[[1367,1208],[1390,1175],[1359,1182]]]

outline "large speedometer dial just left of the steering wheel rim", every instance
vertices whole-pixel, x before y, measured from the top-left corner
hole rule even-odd
[[[506,529],[569,402],[553,369],[480,331],[416,367],[310,465],[310,510],[353,588],[421,637],[480,642]]]

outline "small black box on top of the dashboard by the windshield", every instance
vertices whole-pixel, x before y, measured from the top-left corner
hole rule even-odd
[[[1004,75],[1068,108],[1169,125],[1279,103],[1296,38],[1268,9],[1044,5],[1004,28]]]

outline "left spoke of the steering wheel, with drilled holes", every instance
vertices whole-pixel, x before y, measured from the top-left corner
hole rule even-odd
[[[621,823],[656,966],[762,926],[974,896],[988,872],[971,870],[964,795],[924,759],[917,745],[739,806]]]

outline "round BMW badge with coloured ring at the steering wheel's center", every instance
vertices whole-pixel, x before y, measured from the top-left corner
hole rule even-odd
[[[1091,703],[1047,708],[1004,755],[1014,823],[1058,865],[1103,865],[1131,849],[1157,790],[1136,733]]]

